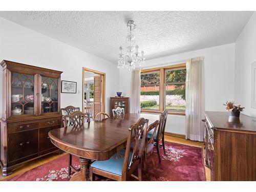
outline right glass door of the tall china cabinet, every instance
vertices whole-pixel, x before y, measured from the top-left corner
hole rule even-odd
[[[58,112],[58,78],[41,76],[41,113]]]

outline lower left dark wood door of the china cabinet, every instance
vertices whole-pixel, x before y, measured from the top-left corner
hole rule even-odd
[[[8,135],[8,162],[38,153],[38,129]]]

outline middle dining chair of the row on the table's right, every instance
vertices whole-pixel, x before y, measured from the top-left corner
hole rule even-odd
[[[154,159],[154,138],[157,131],[159,120],[156,120],[154,123],[150,124],[147,129],[145,130],[146,134],[148,135],[148,132],[153,131],[153,134],[151,138],[145,138],[145,147],[144,147],[144,153],[143,153],[143,164],[144,164],[144,170],[146,172],[147,179],[150,180],[150,177],[148,176],[148,170],[147,170],[147,157],[152,157],[152,163],[154,166],[154,169],[156,169],[156,163]]]

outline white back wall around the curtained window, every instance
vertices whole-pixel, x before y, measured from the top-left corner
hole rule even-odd
[[[225,111],[222,104],[234,98],[234,44],[146,60],[146,67],[174,65],[177,61],[197,56],[204,56],[205,111]],[[119,75],[120,91],[124,96],[130,96],[131,73],[122,69]],[[168,115],[165,131],[185,134],[185,116]]]

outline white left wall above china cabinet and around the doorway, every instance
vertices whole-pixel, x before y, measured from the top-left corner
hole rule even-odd
[[[63,71],[62,80],[76,81],[80,94],[62,93],[61,107],[82,107],[82,67],[106,73],[106,112],[110,111],[110,97],[119,88],[118,80],[113,78],[119,71],[113,63],[0,17],[0,60],[3,59]],[[1,72],[0,118],[2,75]]]

